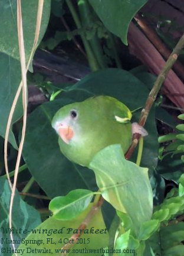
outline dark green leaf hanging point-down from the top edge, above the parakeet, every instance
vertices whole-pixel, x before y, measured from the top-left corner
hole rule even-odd
[[[127,44],[130,21],[147,0],[89,0],[103,24]]]

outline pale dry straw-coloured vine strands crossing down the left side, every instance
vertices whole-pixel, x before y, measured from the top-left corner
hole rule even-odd
[[[10,114],[8,117],[8,124],[6,126],[6,134],[5,134],[5,148],[4,148],[6,176],[8,177],[9,186],[11,187],[11,190],[12,190],[10,205],[9,205],[9,228],[12,228],[12,208],[13,208],[13,203],[14,203],[19,163],[20,163],[21,155],[22,155],[22,148],[23,148],[23,144],[24,144],[25,128],[26,128],[26,121],[27,121],[27,76],[26,75],[27,75],[27,70],[28,70],[29,64],[31,63],[32,56],[34,55],[34,51],[35,51],[35,49],[37,47],[37,43],[38,43],[38,37],[40,34],[40,27],[41,27],[43,5],[44,5],[44,0],[39,0],[35,38],[34,38],[34,43],[33,43],[32,50],[31,50],[31,53],[29,56],[29,60],[28,60],[27,66],[26,66],[25,49],[24,49],[24,35],[23,35],[23,28],[22,28],[22,15],[21,15],[21,0],[17,0],[17,28],[18,28],[18,44],[19,44],[22,80],[18,87],[17,93],[16,93],[14,101],[12,103],[11,111],[10,111]],[[20,142],[19,148],[18,148],[17,163],[15,166],[14,184],[12,186],[10,179],[9,179],[8,161],[7,161],[8,136],[9,136],[9,129],[11,127],[12,116],[14,114],[15,106],[17,104],[19,95],[21,93],[21,89],[22,89],[22,104],[23,104],[23,109],[24,109],[23,127],[22,127],[21,142]],[[11,236],[11,239],[13,240],[12,233],[10,234],[10,236]],[[13,248],[15,249],[15,245],[14,244],[12,244],[12,245],[13,245]],[[15,255],[17,255],[17,253],[15,253]]]

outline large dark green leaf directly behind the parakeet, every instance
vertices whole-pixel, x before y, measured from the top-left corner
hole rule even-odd
[[[55,112],[64,105],[84,101],[94,95],[113,96],[133,110],[144,104],[148,93],[146,86],[129,72],[105,69],[84,77],[68,91],[61,92],[58,99],[44,103],[28,116],[23,157],[31,174],[48,196],[66,195],[70,190],[79,188],[96,190],[93,171],[71,163],[61,154],[57,134],[51,127]],[[139,115],[134,114],[133,121]],[[144,140],[142,165],[154,168],[158,148],[154,111],[146,129],[149,135]]]

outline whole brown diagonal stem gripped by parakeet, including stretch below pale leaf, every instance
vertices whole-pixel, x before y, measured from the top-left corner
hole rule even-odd
[[[162,71],[160,72],[159,76],[156,79],[155,84],[153,85],[152,90],[149,93],[149,96],[147,97],[145,106],[142,110],[142,113],[140,115],[139,119],[139,125],[142,125],[144,127],[147,116],[149,115],[150,109],[152,108],[153,103],[155,102],[156,96],[159,93],[159,90],[166,79],[167,74],[169,73],[169,70],[172,69],[173,64],[178,59],[178,55],[180,53],[180,50],[184,47],[184,34],[180,38],[178,44],[176,44],[176,47],[173,49],[172,54],[170,54],[169,59],[166,61],[165,66],[163,67]],[[126,153],[126,159],[129,160],[132,157],[133,151],[137,146],[137,143],[140,139],[140,134],[135,134],[133,136],[132,145],[130,145],[129,150]],[[142,147],[142,146],[141,146]],[[140,149],[141,150],[141,149]],[[138,159],[139,161],[139,159]],[[74,244],[70,244],[71,241],[77,242],[77,238],[81,236],[80,229],[85,229],[87,225],[90,223],[91,219],[93,219],[94,215],[100,210],[101,205],[103,205],[104,199],[100,196],[100,199],[96,204],[94,204],[93,208],[90,210],[84,221],[81,223],[81,225],[78,227],[78,234],[74,234],[71,236],[68,244],[65,244],[63,249],[70,249],[74,246]],[[95,210],[94,210],[95,209]],[[81,228],[82,227],[82,228]],[[72,240],[74,239],[74,240]],[[62,256],[66,256],[67,253],[61,254]]]

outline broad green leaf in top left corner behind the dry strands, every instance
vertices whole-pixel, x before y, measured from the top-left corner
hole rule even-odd
[[[22,22],[24,29],[25,56],[28,60],[34,42],[35,26],[37,22],[38,0],[22,0]],[[40,39],[45,34],[45,30],[50,18],[51,1],[44,1],[42,15]],[[17,1],[1,0],[1,25],[0,25],[0,51],[15,59],[19,59],[18,36],[17,36]]]

